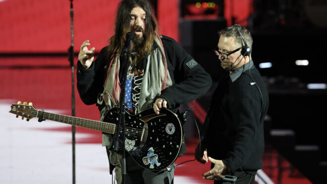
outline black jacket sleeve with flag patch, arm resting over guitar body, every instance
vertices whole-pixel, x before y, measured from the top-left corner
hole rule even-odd
[[[165,88],[159,98],[164,98],[167,107],[172,109],[203,96],[211,87],[212,79],[175,40],[164,36],[162,40],[173,85]]]

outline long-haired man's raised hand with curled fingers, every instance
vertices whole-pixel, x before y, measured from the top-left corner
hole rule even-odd
[[[95,48],[92,47],[90,50],[87,46],[91,45],[89,40],[85,40],[81,45],[81,50],[78,54],[78,60],[84,66],[84,68],[89,68],[94,60],[94,50]]]

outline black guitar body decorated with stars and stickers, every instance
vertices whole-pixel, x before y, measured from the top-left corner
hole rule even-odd
[[[116,124],[117,117],[118,108],[112,108],[106,113],[104,122]],[[152,108],[136,115],[125,113],[124,144],[122,127],[118,140],[116,133],[112,135],[112,147],[118,144],[118,150],[124,148],[141,167],[152,171],[162,170],[176,160],[183,135],[181,123],[174,113],[162,109],[160,115],[156,115]]]

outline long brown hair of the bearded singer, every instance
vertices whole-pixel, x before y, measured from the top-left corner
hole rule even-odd
[[[157,19],[154,16],[152,4],[148,0],[122,0],[119,2],[117,8],[114,28],[115,33],[109,39],[109,61],[114,57],[114,55],[121,53],[125,41],[125,35],[130,31],[130,12],[137,6],[141,7],[146,12],[146,21],[143,32],[144,40],[138,47],[136,61],[150,54],[154,44],[154,38],[159,35],[159,27]]]

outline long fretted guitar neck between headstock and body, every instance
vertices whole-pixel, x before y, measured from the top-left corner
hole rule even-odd
[[[60,114],[49,113],[49,112],[43,112],[43,114],[41,115],[41,111],[38,111],[37,117],[40,118],[40,116],[42,116],[41,118],[45,120],[51,120],[54,122],[80,126],[83,128],[103,131],[110,134],[114,134],[114,130],[116,126],[114,123],[106,123],[106,122],[88,120],[83,118],[76,118],[72,116],[60,115]]]

